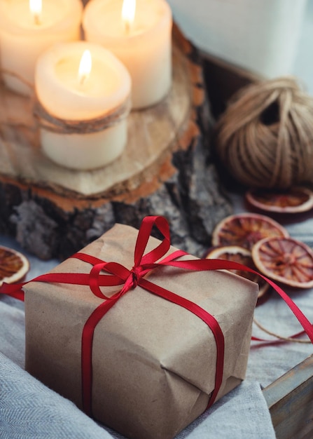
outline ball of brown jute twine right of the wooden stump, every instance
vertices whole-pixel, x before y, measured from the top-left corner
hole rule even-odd
[[[313,98],[293,77],[253,83],[216,123],[226,169],[249,187],[287,189],[313,182]]]

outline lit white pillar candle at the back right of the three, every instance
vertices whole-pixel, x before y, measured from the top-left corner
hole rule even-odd
[[[132,2],[134,0],[124,0]],[[165,0],[137,0],[132,13],[123,0],[91,0],[83,12],[85,39],[111,50],[132,77],[132,107],[160,102],[172,83],[172,12]]]

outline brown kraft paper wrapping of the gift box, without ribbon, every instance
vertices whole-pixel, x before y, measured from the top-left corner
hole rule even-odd
[[[116,224],[82,252],[131,269],[137,234]],[[150,238],[147,251],[156,243]],[[69,258],[50,272],[89,273],[90,267]],[[226,271],[174,267],[155,269],[148,279],[218,320],[225,337],[221,398],[245,376],[257,284]],[[117,289],[105,287],[105,293]],[[83,285],[32,282],[25,293],[26,369],[82,407],[81,334],[102,299]],[[128,438],[173,438],[207,407],[215,373],[216,343],[209,327],[190,311],[137,287],[96,327],[93,417]]]

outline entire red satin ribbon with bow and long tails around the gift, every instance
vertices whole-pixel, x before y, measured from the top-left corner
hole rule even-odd
[[[148,239],[151,236],[153,226],[157,227],[161,232],[163,239],[158,246],[144,255]],[[134,266],[131,270],[125,266],[116,262],[104,262],[97,257],[85,255],[81,252],[76,253],[72,257],[80,259],[83,262],[87,262],[92,265],[92,269],[89,274],[84,273],[46,273],[42,276],[38,276],[32,280],[32,282],[56,282],[56,283],[69,283],[74,285],[89,285],[92,293],[104,300],[95,311],[92,312],[87,322],[83,327],[82,333],[82,353],[81,353],[81,371],[82,371],[82,392],[83,392],[83,409],[87,414],[91,414],[91,396],[92,396],[92,339],[95,332],[97,323],[103,318],[106,312],[116,304],[116,302],[123,297],[128,291],[136,288],[139,285],[141,288],[152,292],[155,295],[167,299],[169,302],[173,302],[179,306],[182,306],[188,311],[194,313],[197,317],[201,318],[206,323],[211,332],[214,335],[216,342],[216,377],[214,391],[209,397],[209,403],[207,407],[210,407],[221,387],[223,379],[223,362],[224,362],[224,337],[221,327],[218,325],[217,320],[210,313],[202,309],[200,306],[185,299],[174,292],[170,292],[165,288],[155,285],[144,278],[149,271],[161,267],[161,266],[174,266],[179,269],[186,269],[191,271],[208,271],[219,269],[237,269],[243,271],[249,271],[251,273],[258,274],[267,283],[269,283],[274,290],[284,299],[291,311],[298,318],[303,329],[307,333],[309,339],[313,343],[313,325],[300,311],[293,300],[286,295],[284,290],[279,288],[274,282],[266,278],[262,274],[254,271],[248,266],[239,264],[237,262],[226,261],[223,259],[191,259],[177,261],[176,259],[187,255],[182,250],[177,250],[171,255],[159,260],[165,256],[170,248],[170,236],[169,236],[169,224],[164,217],[151,216],[145,217],[141,223],[139,234],[137,236],[137,243],[134,250]],[[159,261],[159,262],[157,262]],[[102,271],[106,271],[109,274],[102,274]],[[8,285],[4,283],[0,288],[0,293],[11,295],[18,299],[23,299],[23,293],[21,288],[26,283],[20,283],[15,285]],[[104,295],[100,287],[123,285],[118,292],[111,297]]]

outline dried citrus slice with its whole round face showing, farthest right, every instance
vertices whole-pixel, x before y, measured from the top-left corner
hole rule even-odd
[[[295,288],[313,287],[313,251],[293,238],[264,238],[252,249],[254,264],[274,281]]]

